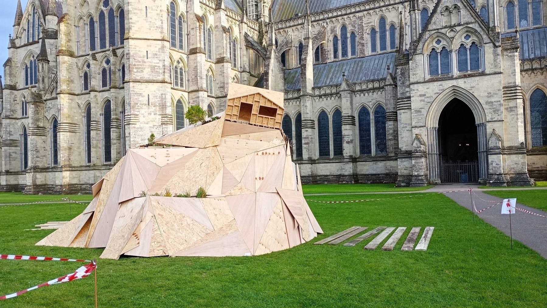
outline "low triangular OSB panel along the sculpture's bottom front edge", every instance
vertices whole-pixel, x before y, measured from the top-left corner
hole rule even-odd
[[[176,255],[185,255],[189,257],[240,257],[250,253],[243,237],[238,231],[229,235],[220,237],[200,246],[190,248],[179,252]]]

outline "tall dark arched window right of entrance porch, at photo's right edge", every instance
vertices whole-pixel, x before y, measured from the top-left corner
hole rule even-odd
[[[536,89],[530,96],[532,147],[547,146],[547,96]]]

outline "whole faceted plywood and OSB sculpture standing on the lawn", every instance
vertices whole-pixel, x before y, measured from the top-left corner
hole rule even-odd
[[[108,259],[224,257],[323,233],[281,130],[283,93],[232,83],[219,117],[156,138],[159,147],[129,149],[83,213],[36,245],[106,247]]]

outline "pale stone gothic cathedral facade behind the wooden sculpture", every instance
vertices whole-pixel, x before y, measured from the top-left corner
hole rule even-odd
[[[127,148],[283,91],[305,183],[547,179],[547,1],[29,0],[0,80],[0,190],[90,191]],[[544,13],[545,12],[545,13]]]

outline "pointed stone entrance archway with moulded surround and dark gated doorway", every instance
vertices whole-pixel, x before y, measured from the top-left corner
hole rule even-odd
[[[446,89],[431,104],[426,126],[431,183],[486,182],[486,114],[474,95]]]

